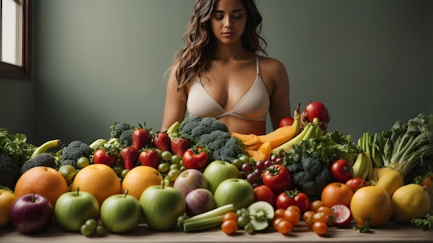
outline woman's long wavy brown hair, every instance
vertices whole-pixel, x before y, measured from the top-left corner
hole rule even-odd
[[[183,35],[185,46],[174,54],[174,62],[170,69],[178,64],[176,70],[177,91],[184,99],[188,85],[208,70],[212,60],[216,38],[212,33],[210,19],[217,1],[219,0],[196,1],[188,28]],[[242,3],[247,12],[245,31],[241,38],[243,48],[246,51],[261,52],[267,55],[264,50],[267,46],[266,40],[260,36],[262,18],[259,10],[257,10],[254,0],[242,0]]]

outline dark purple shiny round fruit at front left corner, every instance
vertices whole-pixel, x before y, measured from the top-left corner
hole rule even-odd
[[[53,215],[50,200],[39,194],[22,195],[10,208],[10,222],[25,234],[43,231],[53,222]]]

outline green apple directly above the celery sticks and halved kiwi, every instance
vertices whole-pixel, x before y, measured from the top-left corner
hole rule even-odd
[[[236,210],[248,208],[254,202],[254,189],[245,179],[225,179],[214,193],[216,207],[233,204]]]

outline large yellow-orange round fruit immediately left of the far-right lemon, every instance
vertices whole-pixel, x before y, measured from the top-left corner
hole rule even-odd
[[[391,215],[391,199],[379,186],[364,186],[353,194],[350,210],[353,220],[362,226],[369,217],[369,226],[378,226]]]

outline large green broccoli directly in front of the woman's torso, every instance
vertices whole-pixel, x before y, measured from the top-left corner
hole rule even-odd
[[[242,141],[231,136],[227,126],[216,118],[189,116],[179,125],[178,136],[208,150],[212,161],[231,162],[239,154],[248,154]]]

